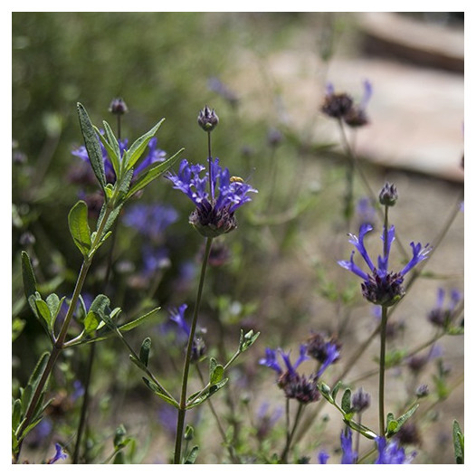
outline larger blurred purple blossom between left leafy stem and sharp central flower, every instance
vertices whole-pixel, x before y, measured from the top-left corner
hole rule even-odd
[[[135,228],[153,243],[159,243],[167,227],[177,219],[175,208],[160,204],[135,204],[124,214],[124,224]]]

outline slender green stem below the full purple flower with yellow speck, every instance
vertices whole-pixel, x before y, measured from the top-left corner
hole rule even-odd
[[[184,434],[184,424],[186,420],[186,386],[188,384],[188,372],[190,369],[190,359],[194,347],[195,328],[198,320],[198,309],[202,300],[202,291],[205,284],[205,271],[208,263],[208,256],[212,248],[213,238],[207,238],[205,244],[204,262],[202,263],[202,271],[200,273],[200,281],[198,282],[198,290],[196,293],[194,316],[192,325],[190,326],[190,335],[188,336],[188,344],[186,346],[186,358],[184,362],[184,374],[182,376],[182,391],[180,393],[180,403],[178,408],[178,418],[176,422],[176,448],[174,453],[174,464],[180,464],[180,452],[182,451],[182,438]]]

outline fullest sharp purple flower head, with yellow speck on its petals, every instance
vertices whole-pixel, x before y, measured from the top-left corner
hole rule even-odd
[[[210,160],[210,171],[200,176],[205,170],[201,165],[190,165],[182,160],[178,174],[168,173],[167,178],[174,188],[186,194],[195,204],[195,211],[190,215],[190,223],[207,237],[229,233],[237,226],[234,212],[246,202],[251,201],[250,192],[257,192],[245,184],[241,178],[230,177],[227,168],[218,165],[218,158]],[[211,184],[211,191],[208,185]]]

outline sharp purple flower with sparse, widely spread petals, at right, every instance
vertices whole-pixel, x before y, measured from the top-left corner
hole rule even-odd
[[[411,260],[407,262],[402,271],[388,271],[388,257],[391,245],[395,240],[395,226],[391,226],[388,231],[384,227],[384,232],[381,235],[384,242],[384,251],[382,256],[378,256],[377,266],[368,256],[364,244],[364,237],[371,230],[372,225],[363,224],[360,227],[358,237],[349,233],[349,243],[354,244],[357,248],[357,251],[367,263],[370,273],[362,271],[354,262],[355,251],[351,253],[350,261],[339,261],[338,264],[364,280],[362,283],[362,294],[367,300],[380,306],[392,306],[405,295],[405,288],[403,286],[405,274],[412,270],[416,264],[422,262],[431,251],[431,248],[428,244],[423,247],[421,243],[410,243],[413,251]]]

